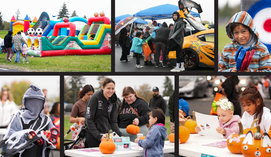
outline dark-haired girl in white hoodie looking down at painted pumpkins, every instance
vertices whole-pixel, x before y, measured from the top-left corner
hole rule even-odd
[[[239,95],[238,101],[245,110],[241,119],[243,129],[250,128],[253,120],[258,118],[254,127],[260,125],[263,132],[268,132],[271,125],[270,109],[264,105],[264,100],[253,83],[250,83],[250,86]]]

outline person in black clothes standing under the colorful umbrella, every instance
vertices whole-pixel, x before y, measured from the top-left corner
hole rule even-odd
[[[130,53],[129,47],[126,46],[127,38],[130,32],[127,31],[127,27],[124,27],[120,30],[120,38],[119,38],[119,44],[122,47],[122,57],[120,57],[121,62],[129,62],[130,60],[127,59],[127,54]]]

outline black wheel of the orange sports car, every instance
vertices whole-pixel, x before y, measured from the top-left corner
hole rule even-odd
[[[183,61],[185,70],[194,70],[199,65],[199,55],[193,49],[183,49]]]

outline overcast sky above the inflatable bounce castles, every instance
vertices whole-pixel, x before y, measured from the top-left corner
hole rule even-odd
[[[12,16],[15,16],[16,11],[19,9],[21,12],[20,19],[24,19],[26,15],[30,16],[31,20],[36,16],[39,19],[41,13],[45,11],[50,20],[52,15],[57,15],[60,7],[63,5],[64,1],[56,0],[46,0],[46,1],[22,1],[22,0],[1,0],[0,12],[3,15],[3,20],[10,21]],[[87,18],[94,17],[94,13],[104,11],[105,16],[109,17],[111,21],[111,0],[103,1],[88,1],[88,0],[65,0],[68,13],[71,16],[72,12],[75,10],[79,17],[86,15]]]

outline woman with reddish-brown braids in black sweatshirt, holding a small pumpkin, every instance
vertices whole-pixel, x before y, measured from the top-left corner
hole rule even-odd
[[[118,106],[118,126],[123,136],[130,137],[130,141],[134,141],[137,135],[128,134],[126,127],[130,124],[138,125],[140,132],[138,134],[145,135],[149,130],[145,124],[148,124],[149,115],[151,111],[148,103],[143,98],[136,95],[136,91],[132,87],[124,87],[122,90],[122,103]],[[131,107],[137,113],[134,113]],[[136,115],[138,114],[139,117]],[[135,120],[133,122],[133,120]]]

